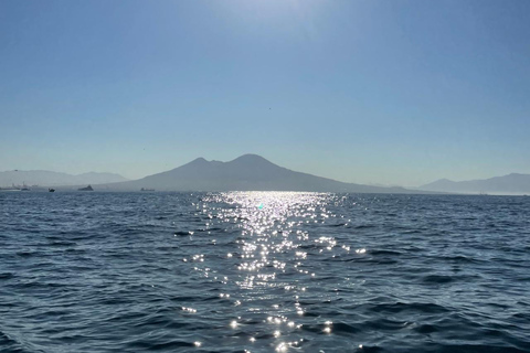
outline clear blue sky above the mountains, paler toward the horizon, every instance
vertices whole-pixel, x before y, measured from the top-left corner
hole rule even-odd
[[[0,1],[0,171],[530,173],[530,1]]]

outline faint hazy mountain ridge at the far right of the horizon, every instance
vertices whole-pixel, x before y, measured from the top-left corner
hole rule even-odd
[[[504,176],[468,181],[441,179],[418,189],[457,193],[527,194],[530,193],[530,174],[511,173]]]

